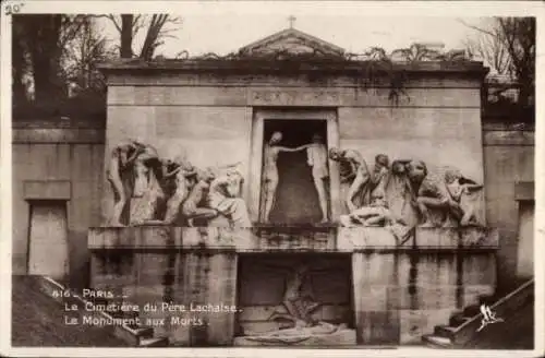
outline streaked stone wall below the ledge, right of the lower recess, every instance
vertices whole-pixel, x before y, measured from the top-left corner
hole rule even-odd
[[[420,344],[457,310],[495,290],[493,253],[352,255],[358,342]]]

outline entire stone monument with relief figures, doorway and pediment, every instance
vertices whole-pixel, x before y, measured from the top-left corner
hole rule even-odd
[[[384,61],[288,28],[227,57],[102,64],[92,287],[193,308],[138,313],[173,346],[420,342],[496,283],[487,69],[447,55]]]

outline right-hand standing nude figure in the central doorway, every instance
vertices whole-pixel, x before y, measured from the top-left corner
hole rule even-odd
[[[306,148],[307,164],[312,167],[314,186],[318,193],[319,207],[322,211],[322,223],[328,222],[327,179],[327,148],[324,139],[319,134],[313,136],[313,143]]]

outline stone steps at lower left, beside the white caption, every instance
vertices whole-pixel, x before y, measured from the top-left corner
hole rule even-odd
[[[77,305],[78,307],[82,307],[86,302],[90,301],[94,302],[95,305],[97,303],[108,303],[108,300],[105,298],[95,298],[92,300],[84,299],[76,293],[70,290],[69,288],[64,287],[63,285],[59,284],[58,282],[45,277],[45,276],[37,276],[38,278],[38,284],[40,290],[49,296],[50,298],[55,299],[57,302],[61,305]],[[58,293],[68,293],[65,296],[59,296]],[[93,315],[97,317],[104,317],[104,318],[114,318],[114,319],[126,319],[126,318],[134,318],[135,313],[130,313],[130,312],[111,312],[111,313],[106,313],[106,312],[93,312]],[[130,346],[133,347],[167,347],[169,345],[169,339],[167,337],[156,337],[155,336],[155,330],[153,327],[148,326],[135,326],[135,325],[111,325],[109,326],[112,329],[112,333],[126,342]]]

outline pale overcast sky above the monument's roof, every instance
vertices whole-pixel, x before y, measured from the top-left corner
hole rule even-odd
[[[172,33],[156,55],[174,57],[182,50],[191,56],[205,52],[226,55],[240,47],[289,27],[288,17],[296,17],[294,27],[344,48],[350,52],[363,52],[372,46],[385,48],[409,47],[415,41],[444,43],[447,50],[463,48],[468,36],[475,31],[463,25],[459,17],[401,17],[361,15],[313,15],[304,12],[281,14],[204,14],[180,15],[183,24]],[[483,19],[462,19],[467,23],[480,24]],[[108,20],[100,26],[114,41],[119,40],[116,28]],[[145,31],[135,38],[134,49],[142,46]]]

